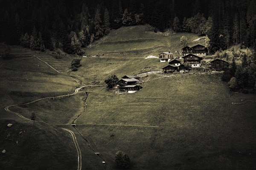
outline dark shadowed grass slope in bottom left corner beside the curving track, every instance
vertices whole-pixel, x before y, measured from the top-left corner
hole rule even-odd
[[[11,127],[7,125],[13,124]],[[77,152],[72,136],[67,131],[43,122],[0,120],[1,170],[75,170]],[[79,139],[79,136],[76,136]],[[103,169],[101,160],[87,146],[80,145],[91,159],[83,168]],[[89,154],[90,153],[90,154]]]

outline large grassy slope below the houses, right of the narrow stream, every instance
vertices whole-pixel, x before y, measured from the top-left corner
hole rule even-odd
[[[128,153],[136,170],[256,166],[256,105],[231,105],[239,96],[230,96],[219,75],[168,77],[143,87],[119,95],[92,89],[87,110],[76,121],[82,135],[108,159],[110,169],[115,168],[116,150]]]

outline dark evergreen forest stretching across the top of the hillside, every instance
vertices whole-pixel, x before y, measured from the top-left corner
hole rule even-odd
[[[256,46],[255,0],[0,0],[0,41],[79,54],[121,26],[207,35],[209,52]]]

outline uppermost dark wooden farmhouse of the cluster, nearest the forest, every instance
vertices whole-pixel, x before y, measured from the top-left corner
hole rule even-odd
[[[181,48],[180,51],[183,56],[187,54],[195,54],[197,56],[203,57],[203,56],[206,56],[207,54],[207,48],[201,44],[197,44],[192,47],[186,46]]]

